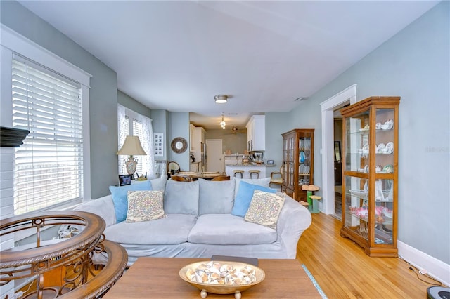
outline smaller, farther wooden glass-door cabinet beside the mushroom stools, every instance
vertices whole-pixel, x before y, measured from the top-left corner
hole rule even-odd
[[[283,136],[283,185],[286,192],[297,201],[307,201],[302,185],[313,184],[314,178],[314,128],[295,128]]]

